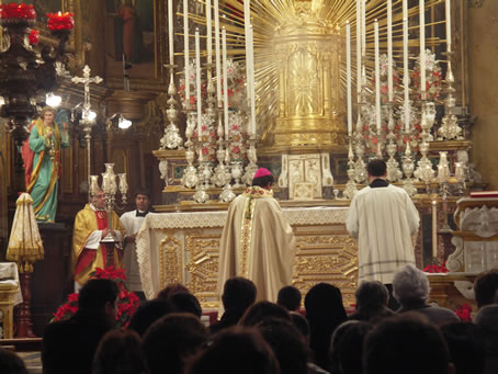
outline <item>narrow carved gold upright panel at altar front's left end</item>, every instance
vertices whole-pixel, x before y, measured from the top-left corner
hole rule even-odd
[[[182,242],[173,235],[174,229],[167,229],[166,238],[159,245],[159,279],[163,285],[183,282]]]

